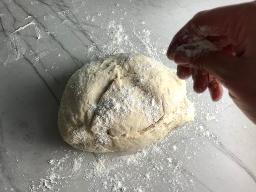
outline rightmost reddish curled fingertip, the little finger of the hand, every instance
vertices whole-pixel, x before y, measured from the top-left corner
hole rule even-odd
[[[219,101],[223,95],[223,88],[220,82],[213,76],[209,76],[209,86],[210,95],[213,101]]]

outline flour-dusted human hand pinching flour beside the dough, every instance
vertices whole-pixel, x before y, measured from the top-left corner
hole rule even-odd
[[[192,75],[196,92],[208,87],[218,101],[223,84],[256,123],[256,1],[197,13],[173,37],[166,55],[178,64],[181,79]]]

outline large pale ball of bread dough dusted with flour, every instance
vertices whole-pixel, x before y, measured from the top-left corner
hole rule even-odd
[[[173,70],[143,55],[122,53],[86,64],[70,77],[58,126],[74,148],[132,151],[193,116],[186,83]]]

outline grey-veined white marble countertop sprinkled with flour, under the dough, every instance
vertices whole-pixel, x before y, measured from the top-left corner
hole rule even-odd
[[[239,2],[0,0],[0,191],[256,191],[256,126],[226,91],[213,103],[188,80],[195,121],[138,152],[82,152],[57,127],[65,85],[83,64],[138,52],[175,68],[165,51],[178,29]]]

